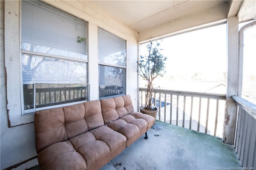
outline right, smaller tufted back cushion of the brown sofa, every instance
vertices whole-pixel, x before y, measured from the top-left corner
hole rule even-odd
[[[102,99],[100,103],[105,124],[134,112],[130,95]]]

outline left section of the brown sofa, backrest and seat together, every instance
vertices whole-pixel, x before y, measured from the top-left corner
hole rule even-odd
[[[34,126],[42,169],[97,169],[126,146],[125,136],[104,126],[100,101],[38,111]]]

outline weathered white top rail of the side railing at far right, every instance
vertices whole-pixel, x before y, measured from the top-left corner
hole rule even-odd
[[[239,107],[242,107],[249,115],[251,115],[254,119],[256,119],[256,105],[243,99],[240,96],[232,96],[232,99],[236,102]]]

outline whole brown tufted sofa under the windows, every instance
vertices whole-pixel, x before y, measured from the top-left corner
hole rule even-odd
[[[39,165],[48,170],[99,169],[153,124],[153,117],[134,112],[130,95],[37,111]]]

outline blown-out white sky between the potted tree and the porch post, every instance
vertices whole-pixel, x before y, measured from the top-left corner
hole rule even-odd
[[[166,77],[191,77],[203,73],[209,81],[226,72],[226,24],[159,40],[167,57]],[[141,50],[143,51],[143,50]]]

